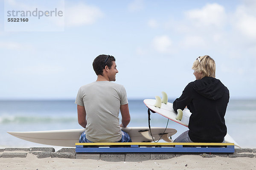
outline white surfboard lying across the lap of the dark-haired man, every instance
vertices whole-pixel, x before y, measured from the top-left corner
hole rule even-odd
[[[130,135],[132,142],[152,142],[153,139],[155,141],[160,139],[165,127],[151,127],[153,139],[148,127],[121,127],[121,129]],[[75,147],[75,143],[79,142],[79,137],[83,132],[84,129],[70,129],[7,133],[30,142],[53,146]],[[177,133],[177,130],[166,128],[161,139],[166,142],[172,142],[171,136],[175,133]]]

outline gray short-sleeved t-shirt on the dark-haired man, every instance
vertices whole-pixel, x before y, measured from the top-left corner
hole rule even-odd
[[[86,138],[92,142],[117,142],[122,138],[119,125],[120,105],[128,104],[123,85],[98,81],[81,86],[77,105],[84,106],[87,125]]]

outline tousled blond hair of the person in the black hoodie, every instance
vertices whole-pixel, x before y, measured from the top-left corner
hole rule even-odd
[[[198,73],[203,73],[203,77],[214,77],[215,78],[215,61],[205,55],[198,57],[195,62],[193,63],[192,69],[195,70]]]

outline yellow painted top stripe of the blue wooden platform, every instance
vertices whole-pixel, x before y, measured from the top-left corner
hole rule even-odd
[[[234,143],[174,143],[174,142],[108,142],[108,143],[76,143],[76,145],[151,145],[151,146],[158,146],[158,145],[207,145],[207,146],[227,146],[227,145],[234,145]]]

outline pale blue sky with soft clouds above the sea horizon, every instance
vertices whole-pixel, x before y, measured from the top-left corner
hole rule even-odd
[[[64,15],[7,23],[7,7]],[[0,100],[75,99],[96,80],[100,54],[116,58],[115,83],[128,99],[179,97],[203,55],[230,99],[255,99],[255,8],[255,0],[0,0]]]

